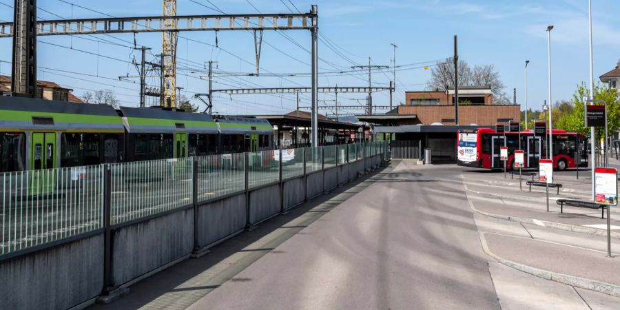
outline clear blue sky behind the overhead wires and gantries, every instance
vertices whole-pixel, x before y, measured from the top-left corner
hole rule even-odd
[[[76,1],[66,0],[101,13],[115,17],[161,14],[161,1]],[[211,0],[226,13],[254,13],[254,5],[261,12],[289,12],[293,8],[288,0]],[[517,88],[517,102],[524,101],[524,61],[528,67],[528,103],[540,107],[547,98],[547,38],[546,26],[555,25],[552,31],[552,99],[571,99],[575,86],[588,81],[588,28],[587,0],[555,1],[296,1],[295,7],[306,12],[311,3],[318,4],[319,28],[323,40],[335,43],[330,50],[319,42],[321,71],[335,71],[349,68],[353,63],[367,64],[370,56],[373,64],[391,65],[393,50],[390,43],[396,43],[397,65],[433,63],[453,54],[453,35],[459,36],[460,59],[471,65],[493,64],[502,76],[506,92],[512,94]],[[620,2],[595,0],[593,2],[594,71],[600,76],[612,70],[620,59]],[[12,0],[0,0],[0,21],[11,21]],[[42,19],[58,19],[50,12],[63,18],[100,17],[101,14],[84,10],[60,0],[39,0],[38,14]],[[217,14],[207,7],[207,0],[178,0],[178,14]],[[200,4],[202,5],[200,5]],[[285,6],[286,4],[286,6]],[[6,6],[8,5],[8,6]],[[207,6],[207,7],[205,7]],[[288,8],[287,8],[288,7]],[[49,12],[45,12],[45,11]],[[285,32],[292,40],[309,50],[310,34],[306,30]],[[182,38],[181,38],[182,37]],[[213,32],[182,32],[178,39],[177,84],[182,92],[192,96],[207,90],[205,61],[218,61],[218,70],[228,72],[254,72],[254,37],[251,32],[220,32],[218,47],[214,48]],[[189,39],[189,40],[188,40]],[[309,72],[310,54],[292,43],[285,35],[265,32],[260,66],[269,72]],[[99,41],[99,42],[96,42]],[[138,104],[138,85],[118,81],[118,76],[136,75],[135,68],[126,61],[139,53],[130,47],[134,42],[132,34],[114,34],[96,37],[39,37],[40,68],[39,79],[56,81],[74,88],[74,93],[88,90],[112,89],[121,100],[121,105]],[[45,42],[45,43],[42,43]],[[138,45],[152,48],[152,54],[161,53],[161,34],[137,34]],[[202,42],[202,43],[200,43]],[[51,44],[50,44],[51,43]],[[271,46],[278,48],[278,50]],[[61,48],[56,45],[64,46]],[[122,45],[122,46],[121,46]],[[220,49],[221,48],[221,49]],[[79,52],[82,50],[85,52]],[[0,39],[0,61],[11,59],[10,39]],[[90,54],[89,54],[90,53]],[[97,56],[99,54],[99,56]],[[108,59],[105,57],[112,57]],[[153,56],[147,57],[154,59]],[[242,59],[242,60],[240,60]],[[188,61],[189,60],[189,61]],[[409,70],[397,72],[395,101],[404,100],[404,91],[423,90],[430,76],[430,70],[410,65]],[[59,72],[56,69],[67,72]],[[0,62],[0,72],[8,74],[10,65]],[[192,73],[194,72],[194,73]],[[265,72],[265,71],[261,71]],[[85,75],[88,74],[88,75]],[[93,76],[90,76],[93,75]],[[376,72],[374,85],[388,85],[391,74]],[[137,81],[134,79],[134,81]],[[295,87],[309,86],[309,78],[303,77],[223,77],[216,79],[214,88]],[[366,85],[367,74],[320,76],[320,86]],[[340,94],[341,105],[358,105],[354,99],[363,99],[364,94]],[[320,99],[331,100],[333,95],[320,95]],[[302,106],[309,104],[309,96],[301,96]],[[198,103],[198,101],[193,101]],[[387,105],[387,92],[373,96],[375,105]],[[295,107],[294,96],[245,95],[229,96],[218,94],[215,111],[228,114],[274,114],[288,112]],[[348,110],[344,113],[361,113]]]

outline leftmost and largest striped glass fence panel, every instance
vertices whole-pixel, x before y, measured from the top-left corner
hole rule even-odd
[[[103,225],[102,166],[3,173],[0,191],[0,255]]]

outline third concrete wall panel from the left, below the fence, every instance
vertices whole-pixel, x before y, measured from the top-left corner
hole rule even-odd
[[[206,247],[245,228],[245,193],[198,206],[198,245]]]

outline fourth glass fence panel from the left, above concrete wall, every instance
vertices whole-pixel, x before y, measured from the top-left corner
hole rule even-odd
[[[275,156],[275,151],[248,153],[249,188],[259,187],[280,180],[280,163],[276,161]]]

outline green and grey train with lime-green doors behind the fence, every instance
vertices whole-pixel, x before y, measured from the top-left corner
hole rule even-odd
[[[268,121],[0,97],[0,172],[273,149]]]

